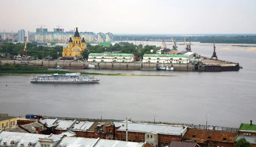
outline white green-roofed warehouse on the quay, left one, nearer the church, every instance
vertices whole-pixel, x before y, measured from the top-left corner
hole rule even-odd
[[[89,62],[134,62],[134,54],[90,53]]]

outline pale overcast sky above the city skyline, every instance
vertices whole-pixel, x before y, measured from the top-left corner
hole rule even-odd
[[[256,0],[0,0],[0,32],[254,34]]]

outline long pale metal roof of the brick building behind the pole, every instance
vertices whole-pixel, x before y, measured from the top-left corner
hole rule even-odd
[[[125,123],[114,122],[114,124],[121,126],[117,129],[118,131],[126,130]],[[180,135],[181,133],[183,133],[185,129],[186,127],[183,129],[183,127],[174,127],[174,126],[167,126],[167,125],[128,123],[128,131],[130,132],[148,133],[151,131],[155,131],[160,134]]]

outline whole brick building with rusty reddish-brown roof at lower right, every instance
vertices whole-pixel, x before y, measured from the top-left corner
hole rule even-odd
[[[236,136],[237,132],[188,128],[182,140],[201,147],[234,147]]]

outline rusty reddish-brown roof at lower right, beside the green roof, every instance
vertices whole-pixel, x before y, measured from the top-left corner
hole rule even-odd
[[[219,142],[233,142],[237,136],[237,132],[214,131],[188,128],[183,136],[186,142],[205,143],[207,140]],[[195,137],[193,137],[195,136]]]

